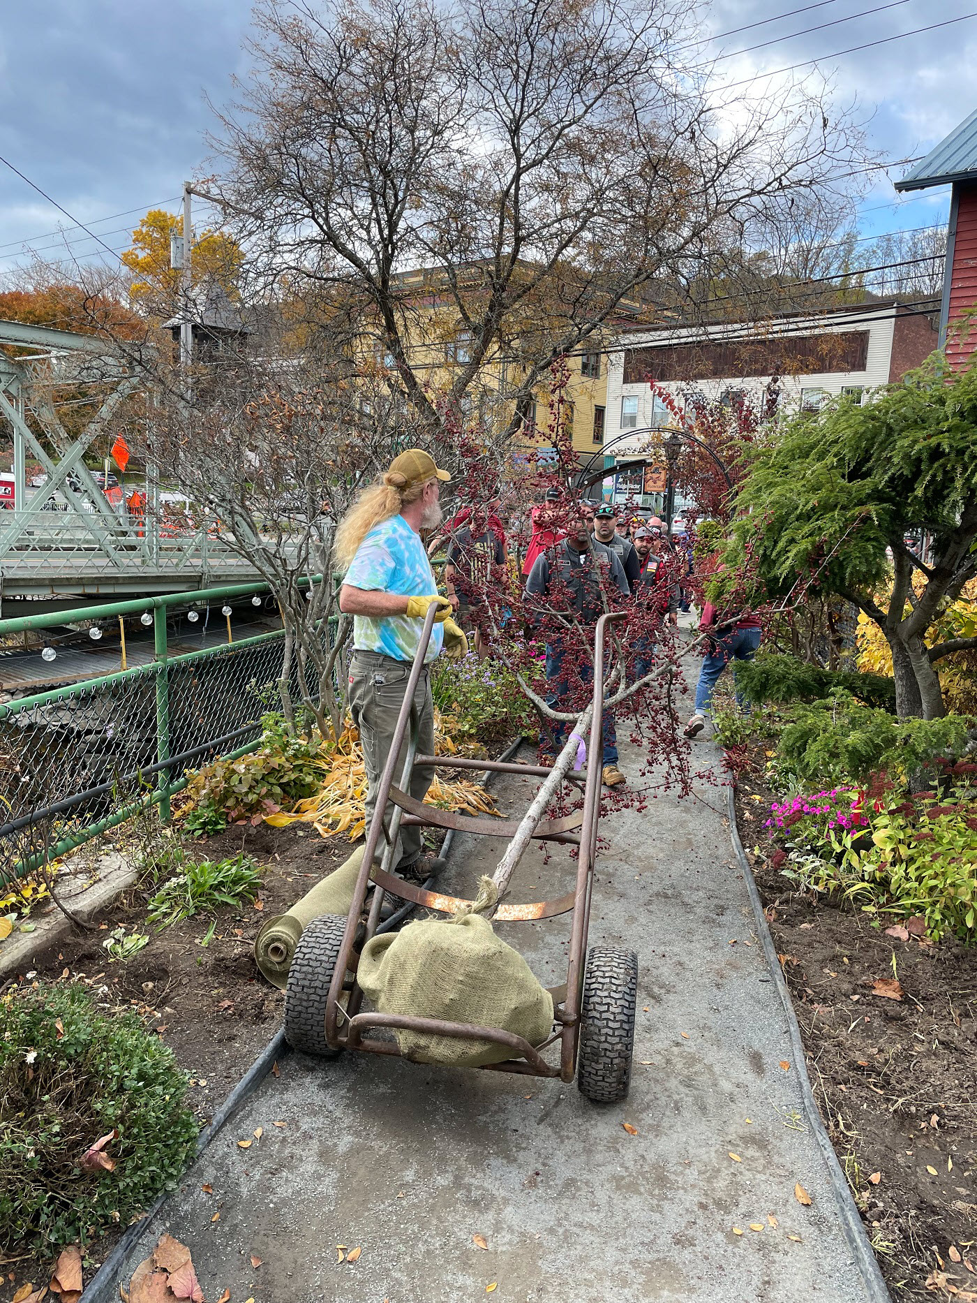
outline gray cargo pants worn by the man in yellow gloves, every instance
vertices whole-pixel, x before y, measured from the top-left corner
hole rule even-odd
[[[393,661],[379,652],[354,650],[349,662],[349,710],[353,723],[360,731],[360,741],[363,748],[363,762],[366,765],[366,829],[369,831],[374,809],[376,808],[376,788],[380,783],[383,766],[387,764],[391,745],[393,744],[393,730],[397,724],[397,715],[404,701],[404,691],[410,675],[408,661]],[[434,702],[431,701],[431,676],[425,667],[414,689],[414,705],[419,715],[419,732],[417,751],[418,754],[434,754]],[[400,774],[406,754],[408,735],[397,757],[397,767],[393,771],[393,783],[400,787]],[[434,777],[432,769],[416,769],[410,780],[410,796],[422,801]],[[389,826],[389,816],[393,807],[388,805],[384,825]],[[421,853],[421,829],[405,827],[400,833],[400,853],[393,856],[393,866],[399,860],[405,864],[413,863]],[[386,842],[380,838],[376,847],[376,857],[383,856]]]

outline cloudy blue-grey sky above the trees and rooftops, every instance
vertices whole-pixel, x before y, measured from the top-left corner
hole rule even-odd
[[[248,73],[249,4],[31,0],[4,9],[0,155],[112,249],[126,248],[147,207],[175,210],[184,177],[207,169],[205,96],[225,103],[232,74]],[[870,117],[873,147],[899,160],[925,154],[977,108],[977,93],[967,91],[977,17],[918,31],[976,9],[974,0],[713,0],[701,16],[716,39],[700,50],[703,60],[724,56],[716,68],[729,81],[817,57],[838,98],[857,96]],[[901,39],[842,53],[891,36]],[[947,207],[946,190],[896,201],[882,172],[862,201],[862,224],[873,233],[924,227]],[[27,246],[47,258],[64,253],[65,238],[81,259],[102,255],[83,232],[59,236],[59,225],[70,223],[0,164],[0,274],[25,261]]]

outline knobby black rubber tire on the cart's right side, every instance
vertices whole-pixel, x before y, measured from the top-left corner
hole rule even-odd
[[[634,951],[593,946],[581,997],[577,1089],[594,1104],[616,1104],[628,1093],[637,998]]]

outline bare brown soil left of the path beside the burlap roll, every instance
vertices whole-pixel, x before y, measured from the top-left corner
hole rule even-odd
[[[104,850],[117,835],[94,846]],[[250,855],[262,869],[255,903],[199,913],[156,930],[145,921],[147,896],[156,887],[137,886],[96,916],[90,930],[74,928],[70,937],[38,952],[29,971],[33,981],[108,986],[109,994],[99,998],[120,1012],[135,1012],[190,1074],[188,1105],[203,1127],[281,1018],[284,994],[261,976],[254,963],[258,929],[341,864],[352,844],[345,835],[322,839],[314,830],[294,825],[283,829],[244,825],[210,838],[186,837],[184,846],[199,859],[220,860],[238,851]],[[205,947],[201,942],[214,921],[215,936]],[[108,962],[103,942],[120,924],[126,932],[149,934],[150,941],[132,959]],[[25,973],[17,976],[25,979]],[[117,1237],[119,1233],[107,1235],[89,1247],[86,1282]],[[9,1303],[22,1282],[30,1281],[39,1289],[51,1276],[50,1264],[34,1260],[5,1264],[3,1269],[7,1274],[0,1283],[0,1303]]]

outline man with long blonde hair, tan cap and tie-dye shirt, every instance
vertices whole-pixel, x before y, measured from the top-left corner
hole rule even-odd
[[[422,529],[436,529],[442,523],[440,485],[449,478],[447,470],[438,469],[430,453],[409,448],[393,459],[376,483],[360,494],[336,530],[336,568],[344,573],[339,609],[353,616],[349,709],[360,731],[366,766],[367,829],[431,603],[438,605],[438,623],[431,631],[425,668],[414,693],[419,717],[418,751],[423,754],[434,753],[434,702],[427,667],[442,648],[448,655],[466,650],[461,629],[449,619],[451,602],[438,594],[421,542]],[[414,800],[423,800],[431,774],[427,767],[414,770],[410,779]],[[384,822],[387,820],[384,812]],[[401,856],[395,865],[404,877],[427,877],[421,848],[421,830],[401,829]]]

